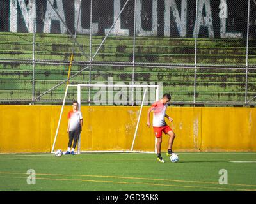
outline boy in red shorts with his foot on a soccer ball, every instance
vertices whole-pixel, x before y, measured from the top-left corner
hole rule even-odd
[[[164,163],[164,160],[161,157],[162,132],[170,136],[169,143],[168,143],[168,150],[166,153],[168,156],[173,153],[172,145],[173,145],[173,140],[175,138],[175,133],[173,132],[172,128],[170,128],[170,126],[168,126],[164,120],[164,117],[166,117],[170,122],[173,121],[173,119],[166,114],[166,108],[168,106],[167,103],[170,100],[171,100],[170,94],[164,94],[163,98],[160,101],[153,103],[152,106],[148,109],[147,126],[150,127],[150,113],[154,112],[153,129],[154,129],[155,136],[157,138],[157,144],[156,144],[157,160],[162,163]]]

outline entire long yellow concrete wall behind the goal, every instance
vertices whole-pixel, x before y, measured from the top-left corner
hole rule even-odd
[[[56,149],[67,149],[65,106]],[[82,106],[82,150],[129,150],[140,107]],[[61,106],[0,105],[0,152],[50,152]],[[179,151],[255,151],[256,108],[169,107],[168,124],[176,133],[173,149]],[[151,117],[152,119],[152,117]],[[143,108],[134,150],[154,150],[154,132]],[[163,136],[162,150],[168,145]]]

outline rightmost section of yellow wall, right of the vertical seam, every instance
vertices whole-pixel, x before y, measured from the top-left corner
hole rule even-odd
[[[202,150],[256,150],[256,108],[202,108]]]

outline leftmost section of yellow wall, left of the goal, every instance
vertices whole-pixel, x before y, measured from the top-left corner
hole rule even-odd
[[[0,106],[0,152],[49,152],[52,106]]]

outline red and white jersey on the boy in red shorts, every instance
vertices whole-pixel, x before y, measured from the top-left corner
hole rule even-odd
[[[153,127],[163,127],[166,126],[164,120],[166,114],[167,103],[164,105],[161,101],[157,101],[152,104],[154,115],[153,115]]]

